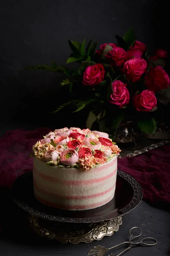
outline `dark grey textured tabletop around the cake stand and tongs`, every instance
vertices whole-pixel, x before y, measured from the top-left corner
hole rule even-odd
[[[17,124],[1,124],[0,136],[5,131],[20,128]],[[25,129],[32,129],[32,127]],[[4,206],[3,206],[4,207]],[[2,207],[2,208],[3,208]],[[1,208],[1,209],[2,209]],[[17,215],[17,223],[14,219],[8,221],[10,215],[14,214],[14,209],[8,205],[7,225],[5,236],[0,238],[0,256],[86,256],[88,251],[96,245],[107,248],[112,247],[122,241],[127,241],[129,230],[132,227],[140,227],[144,236],[151,236],[157,239],[158,243],[153,247],[133,247],[125,255],[127,256],[165,256],[170,250],[170,214],[162,209],[150,206],[142,201],[138,207],[122,217],[122,225],[119,230],[110,237],[104,237],[101,241],[93,241],[89,244],[61,244],[58,241],[48,241],[38,238],[34,232],[27,233],[22,230],[22,218]],[[22,214],[22,213],[21,213]],[[1,216],[1,222],[3,221]],[[18,221],[20,220],[20,221]],[[124,247],[112,252],[117,255]],[[106,254],[108,255],[108,254]]]

